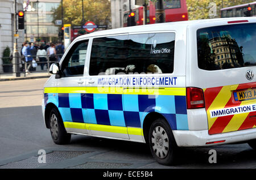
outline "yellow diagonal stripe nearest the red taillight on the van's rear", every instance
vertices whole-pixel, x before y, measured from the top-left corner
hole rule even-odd
[[[238,85],[237,85],[238,86]],[[209,106],[207,110],[207,116],[208,116],[208,128],[210,129],[213,125],[213,123],[216,121],[216,118],[210,118],[210,110],[213,109],[222,109],[225,107],[225,105],[228,103],[230,97],[230,85],[226,85],[221,88],[221,91],[218,93],[216,98],[213,100],[212,104]]]

